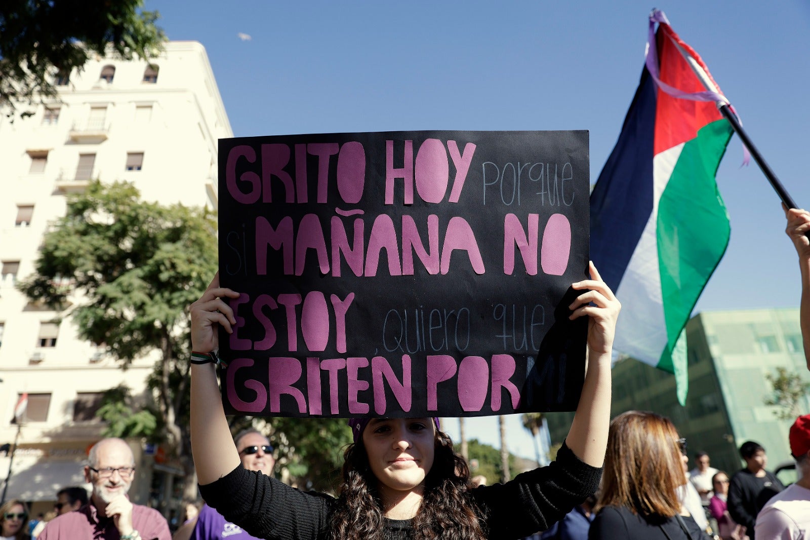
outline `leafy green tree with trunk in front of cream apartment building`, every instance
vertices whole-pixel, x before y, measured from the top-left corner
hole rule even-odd
[[[123,367],[156,356],[148,379],[156,426],[167,454],[181,460],[190,491],[196,477],[185,311],[216,272],[215,230],[215,217],[204,208],[143,202],[129,183],[92,182],[68,199],[66,215],[45,234],[36,272],[18,285],[28,298],[71,315],[79,337],[107,349]],[[118,407],[108,409],[109,418],[126,418],[126,408]],[[130,426],[148,435],[145,418]]]

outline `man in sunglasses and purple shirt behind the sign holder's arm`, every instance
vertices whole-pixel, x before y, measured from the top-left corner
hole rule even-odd
[[[234,437],[242,466],[248,470],[258,470],[267,476],[273,475],[273,447],[270,441],[257,430],[245,430]],[[174,540],[256,540],[241,529],[227,521],[219,512],[207,504],[200,509],[197,521],[190,521],[177,529]]]

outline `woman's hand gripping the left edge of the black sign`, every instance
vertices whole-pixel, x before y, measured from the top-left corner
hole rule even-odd
[[[216,272],[203,296],[191,304],[191,349],[197,353],[210,353],[218,348],[220,325],[230,334],[232,325],[237,324],[223,298],[239,298],[239,293],[221,288],[220,272]]]

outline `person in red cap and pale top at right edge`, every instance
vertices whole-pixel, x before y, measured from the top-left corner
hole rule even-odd
[[[757,516],[757,540],[810,538],[810,414],[793,422],[790,441],[799,480],[762,508]]]

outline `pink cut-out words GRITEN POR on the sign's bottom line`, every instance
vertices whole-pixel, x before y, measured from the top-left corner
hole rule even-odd
[[[487,395],[493,412],[501,410],[502,394],[506,391],[513,409],[520,403],[520,392],[509,380],[514,375],[515,361],[509,354],[493,354],[487,362],[480,356],[467,356],[458,362],[445,355],[428,355],[425,381],[418,382],[417,388],[427,388],[428,411],[438,410],[438,396],[445,395],[446,385],[453,384],[458,392],[458,401],[467,412],[484,408]],[[306,366],[306,373],[304,367]],[[297,358],[271,357],[267,361],[267,386],[256,379],[244,381],[245,388],[255,393],[253,401],[243,401],[236,392],[237,372],[254,365],[250,358],[236,358],[228,364],[225,388],[231,405],[243,413],[261,413],[270,401],[270,413],[281,410],[281,396],[292,396],[301,414],[324,414],[322,396],[329,396],[329,414],[340,414],[339,384],[347,385],[348,412],[369,414],[370,405],[360,400],[360,392],[371,389],[374,414],[386,414],[386,384],[401,410],[411,410],[413,381],[411,380],[411,357],[402,355],[402,380],[397,378],[388,360],[375,356],[368,358],[307,358],[305,362]],[[328,373],[328,388],[322,388],[322,371]],[[370,371],[370,373],[369,373]],[[294,386],[301,379],[305,381],[305,392]],[[342,380],[341,380],[342,379]],[[370,380],[370,384],[369,384]],[[303,381],[302,381],[303,382]],[[491,389],[491,392],[489,392]]]

